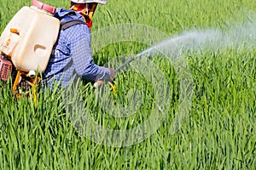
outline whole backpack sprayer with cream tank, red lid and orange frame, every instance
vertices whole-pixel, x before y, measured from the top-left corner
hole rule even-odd
[[[12,93],[18,98],[32,88],[36,100],[37,75],[44,73],[60,29],[54,13],[54,7],[33,0],[31,7],[20,8],[0,37],[0,78],[14,78]]]

